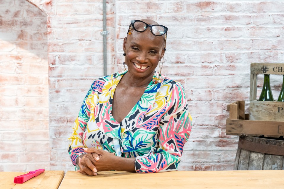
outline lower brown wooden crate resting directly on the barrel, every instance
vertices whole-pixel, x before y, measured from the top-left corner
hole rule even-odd
[[[267,137],[284,136],[283,121],[250,120],[250,115],[245,114],[245,102],[238,101],[227,105],[230,112],[226,120],[227,135],[241,135]]]

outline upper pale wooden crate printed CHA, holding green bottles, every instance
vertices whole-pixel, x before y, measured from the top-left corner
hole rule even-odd
[[[284,102],[258,101],[256,99],[257,75],[259,74],[284,75],[284,63],[251,64],[250,120],[284,121]],[[280,84],[282,84],[282,80]],[[276,100],[277,98],[278,96]]]

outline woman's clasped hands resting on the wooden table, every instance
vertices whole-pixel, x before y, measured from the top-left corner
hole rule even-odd
[[[113,164],[115,161],[114,153],[110,153],[104,150],[96,148],[83,148],[87,154],[81,158],[79,157],[78,166],[80,172],[85,175],[97,175],[98,171],[113,170]]]

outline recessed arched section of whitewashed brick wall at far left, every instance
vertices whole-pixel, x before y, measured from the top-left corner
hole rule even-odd
[[[50,169],[46,14],[0,1],[0,171]]]

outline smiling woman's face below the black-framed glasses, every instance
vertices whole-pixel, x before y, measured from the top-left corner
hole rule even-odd
[[[131,32],[123,41],[128,72],[140,78],[153,76],[165,52],[163,37],[153,35],[148,29],[145,32]]]

